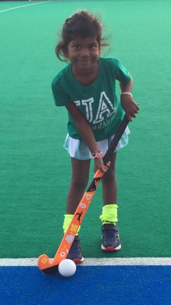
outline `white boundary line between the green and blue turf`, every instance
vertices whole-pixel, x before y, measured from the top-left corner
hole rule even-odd
[[[1,258],[0,266],[37,266],[38,259]],[[81,266],[170,266],[171,257],[85,258]]]

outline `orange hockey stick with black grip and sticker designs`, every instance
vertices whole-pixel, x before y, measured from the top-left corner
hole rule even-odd
[[[111,145],[109,146],[109,148],[103,158],[104,166],[110,161],[111,156],[113,155],[114,150],[115,150],[126,126],[128,125],[128,122],[129,121],[125,115],[112,140]],[[65,259],[67,254],[69,253],[69,250],[72,246],[74,237],[76,236],[76,233],[79,229],[81,222],[83,221],[83,218],[84,218],[86,211],[89,207],[89,204],[94,196],[95,190],[99,184],[99,181],[100,181],[102,175],[104,175],[104,173],[102,173],[100,170],[96,171],[88,190],[83,195],[83,198],[81,199],[81,201],[75,211],[73,219],[62,238],[62,241],[60,243],[60,246],[56,252],[56,255],[55,255],[53,261],[50,262],[49,257],[46,254],[43,254],[38,258],[39,268],[44,273],[47,273],[47,274],[56,273],[58,271],[59,263],[63,259]]]

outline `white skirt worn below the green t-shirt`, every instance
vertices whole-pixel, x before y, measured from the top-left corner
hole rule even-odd
[[[126,127],[118,145],[116,146],[116,151],[120,148],[124,147],[128,143],[128,134],[130,133],[129,128]],[[103,155],[106,154],[108,147],[110,146],[114,135],[109,139],[97,141],[97,145],[101,150]],[[73,139],[67,134],[63,147],[67,150],[71,157],[79,159],[79,160],[88,160],[92,158],[90,150],[84,141]]]

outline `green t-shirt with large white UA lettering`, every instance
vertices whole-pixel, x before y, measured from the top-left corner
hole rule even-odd
[[[114,135],[124,115],[115,94],[115,80],[123,83],[130,81],[128,71],[117,58],[99,57],[98,65],[98,75],[89,86],[81,85],[74,78],[72,64],[67,65],[52,80],[56,106],[67,106],[74,102],[89,121],[96,141]],[[67,130],[72,138],[81,140],[70,113]]]

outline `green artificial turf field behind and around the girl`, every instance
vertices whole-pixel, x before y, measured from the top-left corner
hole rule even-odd
[[[36,2],[1,2],[0,11]],[[51,80],[65,64],[57,33],[77,9],[101,14],[111,50],[134,79],[140,105],[117,156],[122,250],[100,250],[101,186],[80,231],[85,257],[170,257],[170,9],[163,1],[52,1],[0,13],[0,257],[54,256],[62,237],[70,157],[67,113]],[[119,88],[117,88],[119,93]],[[90,180],[93,176],[91,166]]]

